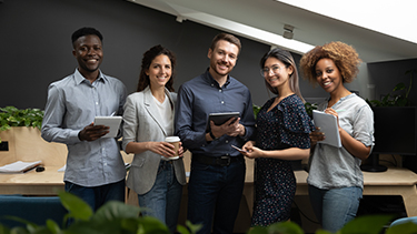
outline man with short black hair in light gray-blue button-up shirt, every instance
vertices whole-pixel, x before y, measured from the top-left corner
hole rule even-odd
[[[66,191],[97,210],[109,200],[125,201],[126,169],[116,140],[101,138],[108,126],[92,122],[95,116],[121,115],[127,89],[99,70],[103,58],[99,31],[77,30],[72,45],[78,69],[49,85],[41,132],[48,142],[67,144]]]

